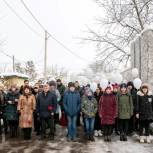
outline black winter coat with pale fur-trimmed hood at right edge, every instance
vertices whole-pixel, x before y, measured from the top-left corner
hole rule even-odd
[[[140,120],[153,120],[153,95],[148,92],[144,95],[141,91],[138,91],[138,104],[136,112],[139,113]]]

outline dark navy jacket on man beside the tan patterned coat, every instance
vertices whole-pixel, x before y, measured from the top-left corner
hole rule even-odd
[[[52,107],[49,110],[49,107]],[[56,112],[57,107],[57,97],[50,91],[45,95],[44,92],[41,92],[37,97],[36,110],[40,118],[50,118],[51,113]]]

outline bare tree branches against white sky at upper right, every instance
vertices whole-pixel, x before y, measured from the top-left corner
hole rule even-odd
[[[96,19],[99,29],[88,27],[87,36],[83,40],[96,45],[97,59],[103,66],[113,61],[127,65],[130,42],[153,22],[153,0],[94,1],[104,9],[105,17]]]

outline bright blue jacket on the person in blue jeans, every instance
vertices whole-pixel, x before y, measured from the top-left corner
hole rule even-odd
[[[80,94],[76,91],[67,91],[64,94],[64,110],[68,116],[75,116],[80,112]]]

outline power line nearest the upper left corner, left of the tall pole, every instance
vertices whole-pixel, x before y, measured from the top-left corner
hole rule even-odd
[[[27,24],[25,22],[25,20],[18,15],[18,13],[8,4],[8,2],[6,0],[3,0],[3,2],[5,3],[5,5],[18,17],[18,19],[24,24],[26,25],[33,33],[35,33],[36,35],[38,35],[39,37],[43,38],[42,35],[40,33],[38,33],[35,29],[33,29],[29,24]]]

